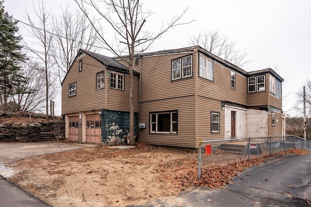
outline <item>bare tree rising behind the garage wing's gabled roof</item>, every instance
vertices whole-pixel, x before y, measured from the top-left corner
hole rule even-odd
[[[95,43],[96,33],[80,10],[73,12],[69,5],[61,15],[53,18],[53,57],[57,76],[61,83],[80,48],[90,50]]]

